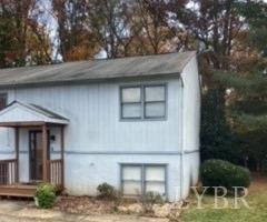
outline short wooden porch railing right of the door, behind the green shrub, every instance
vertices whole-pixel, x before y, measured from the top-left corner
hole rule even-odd
[[[62,160],[49,160],[48,174],[51,184],[62,186]]]

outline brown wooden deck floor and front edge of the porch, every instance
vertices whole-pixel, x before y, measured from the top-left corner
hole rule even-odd
[[[0,196],[33,198],[36,185],[0,185]]]

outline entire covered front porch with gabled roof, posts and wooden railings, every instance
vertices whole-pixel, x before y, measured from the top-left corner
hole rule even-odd
[[[12,158],[0,160],[0,195],[30,198],[42,182],[59,191],[65,188],[63,135],[68,122],[48,109],[18,101],[0,111],[0,128],[12,129],[13,140]],[[50,143],[56,140],[58,149],[53,151]]]

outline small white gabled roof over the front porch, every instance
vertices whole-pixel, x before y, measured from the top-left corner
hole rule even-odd
[[[0,127],[68,124],[69,120],[37,104],[13,101],[0,111]]]

